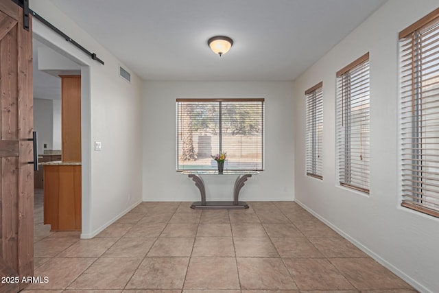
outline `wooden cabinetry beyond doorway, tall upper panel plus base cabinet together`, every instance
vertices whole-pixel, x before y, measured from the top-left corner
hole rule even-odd
[[[81,76],[60,78],[62,162],[43,166],[44,224],[81,231]]]

